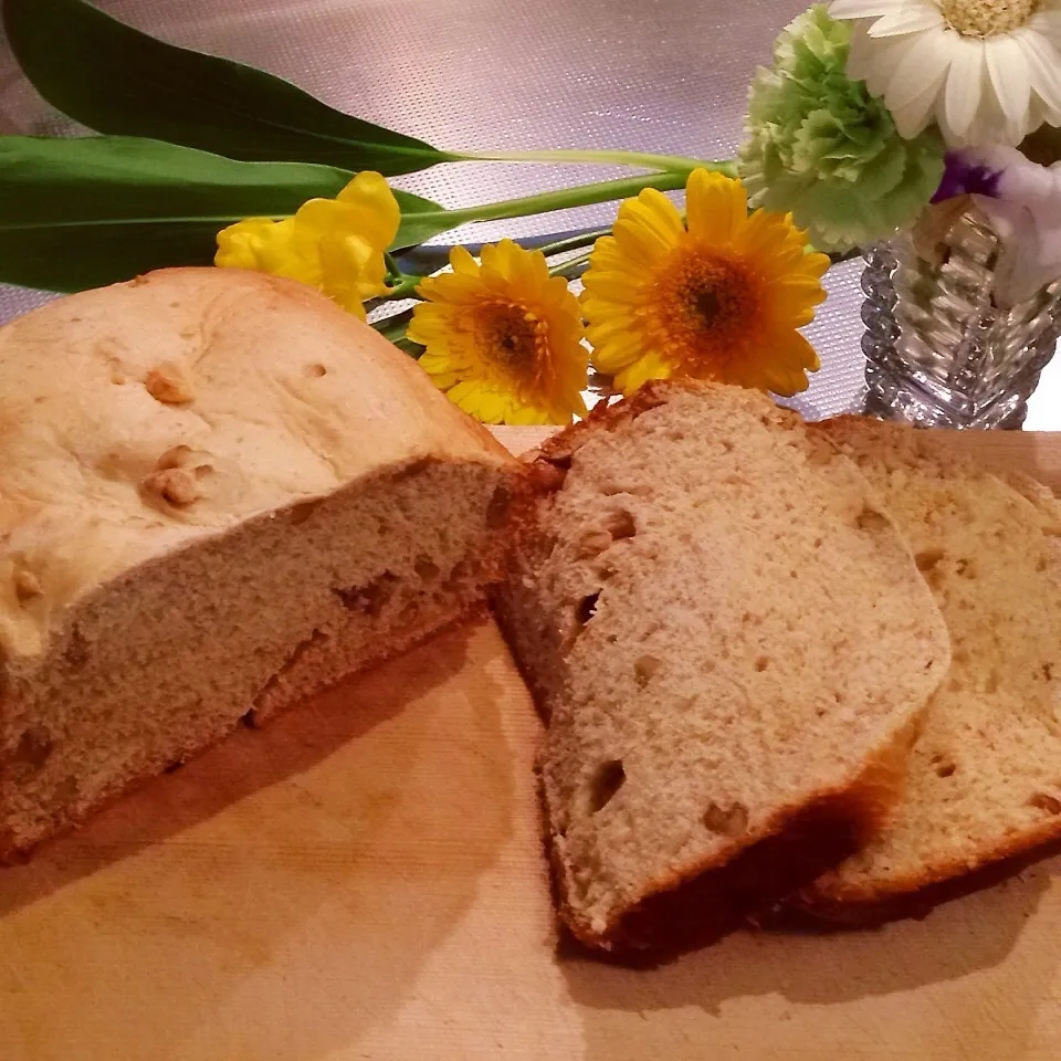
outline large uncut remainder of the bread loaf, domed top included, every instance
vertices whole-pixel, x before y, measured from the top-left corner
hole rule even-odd
[[[0,330],[0,858],[474,607],[515,474],[288,281],[167,270]]]

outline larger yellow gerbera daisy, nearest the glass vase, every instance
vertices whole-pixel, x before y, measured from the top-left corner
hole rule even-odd
[[[818,357],[796,329],[826,297],[828,256],[806,253],[790,217],[748,217],[738,180],[698,169],[685,191],[687,227],[647,189],[597,242],[582,294],[595,367],[623,393],[672,375],[805,390]]]

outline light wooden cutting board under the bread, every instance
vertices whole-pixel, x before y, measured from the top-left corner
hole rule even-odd
[[[1061,435],[939,442],[1061,489]],[[1061,1059],[1061,860],[873,932],[558,957],[538,737],[483,621],[0,872],[0,1061]]]

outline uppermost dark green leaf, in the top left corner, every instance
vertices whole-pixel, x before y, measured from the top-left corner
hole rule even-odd
[[[38,92],[99,133],[386,177],[458,157],[335,111],[253,66],[158,41],[84,0],[3,0],[3,24]]]

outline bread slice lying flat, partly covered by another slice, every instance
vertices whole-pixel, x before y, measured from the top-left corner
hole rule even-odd
[[[857,418],[815,430],[883,497],[953,644],[893,820],[801,896],[859,920],[1061,837],[1061,508],[1031,480],[939,456],[931,432]]]

